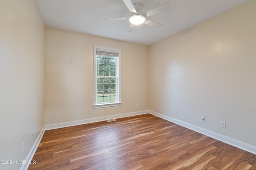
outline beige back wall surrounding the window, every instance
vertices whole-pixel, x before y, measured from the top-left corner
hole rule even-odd
[[[122,50],[121,106],[92,107],[93,45]],[[46,125],[148,109],[148,46],[46,27],[45,57]]]

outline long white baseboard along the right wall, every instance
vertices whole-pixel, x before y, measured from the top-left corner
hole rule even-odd
[[[160,113],[156,113],[154,111],[151,111],[149,110],[148,111],[150,114],[152,115],[155,115],[157,117],[160,117],[162,119],[165,119],[165,120],[168,120],[170,122],[173,122],[173,123],[176,123],[178,125],[181,125],[183,127],[186,127],[188,129],[191,129],[193,131],[196,131],[198,133],[202,133],[203,135],[206,135],[208,137],[212,137],[214,139],[217,139],[219,141],[222,141],[224,143],[227,143],[229,145],[232,145],[234,147],[237,147],[237,148],[240,148],[240,149],[243,149],[243,150],[246,150],[248,152],[251,152],[253,154],[256,154],[256,146],[254,145],[250,145],[248,143],[244,143],[242,141],[238,141],[236,139],[233,139],[233,138],[230,138],[230,137],[227,137],[227,136],[224,136],[224,135],[221,135],[219,133],[216,133],[216,132],[213,132],[213,131],[210,131],[210,130],[207,130],[207,129],[204,129],[202,127],[198,127],[198,126],[195,126],[195,125],[192,125],[190,123],[186,123],[184,121],[180,121],[178,119],[174,119],[172,117],[169,117],[169,116],[166,116],[166,115],[163,115],[163,114],[160,114]]]

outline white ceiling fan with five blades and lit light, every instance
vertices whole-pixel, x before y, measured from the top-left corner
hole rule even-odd
[[[146,23],[147,25],[150,25],[152,27],[161,27],[161,23],[157,23],[152,20],[148,20],[148,16],[152,16],[155,14],[158,14],[160,12],[163,12],[165,10],[168,10],[171,6],[170,2],[166,2],[162,5],[159,5],[151,10],[148,10],[144,13],[142,13],[140,10],[142,9],[141,3],[135,3],[132,4],[131,0],[123,0],[124,4],[127,6],[127,8],[132,12],[129,17],[117,17],[117,18],[105,18],[106,20],[126,20],[129,19],[131,25],[128,28],[128,32],[131,32],[135,25],[140,25],[142,23]]]

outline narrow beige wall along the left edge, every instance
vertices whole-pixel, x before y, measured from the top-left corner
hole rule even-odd
[[[44,23],[34,0],[0,4],[0,160],[25,160],[44,127]]]

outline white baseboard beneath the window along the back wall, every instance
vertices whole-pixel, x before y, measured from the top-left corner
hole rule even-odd
[[[91,118],[91,119],[82,119],[82,120],[77,120],[77,121],[68,121],[68,122],[63,122],[63,123],[54,123],[54,124],[50,124],[50,125],[45,125],[45,130],[58,129],[58,128],[62,128],[62,127],[70,127],[70,126],[75,126],[75,125],[83,125],[86,123],[94,123],[94,122],[98,122],[98,121],[105,121],[108,119],[117,119],[117,118],[122,118],[122,117],[142,115],[145,113],[148,113],[148,110],[135,111],[135,112],[130,112],[130,113],[123,113],[123,114],[110,115],[110,116],[104,116],[104,117],[95,117],[95,118]]]

